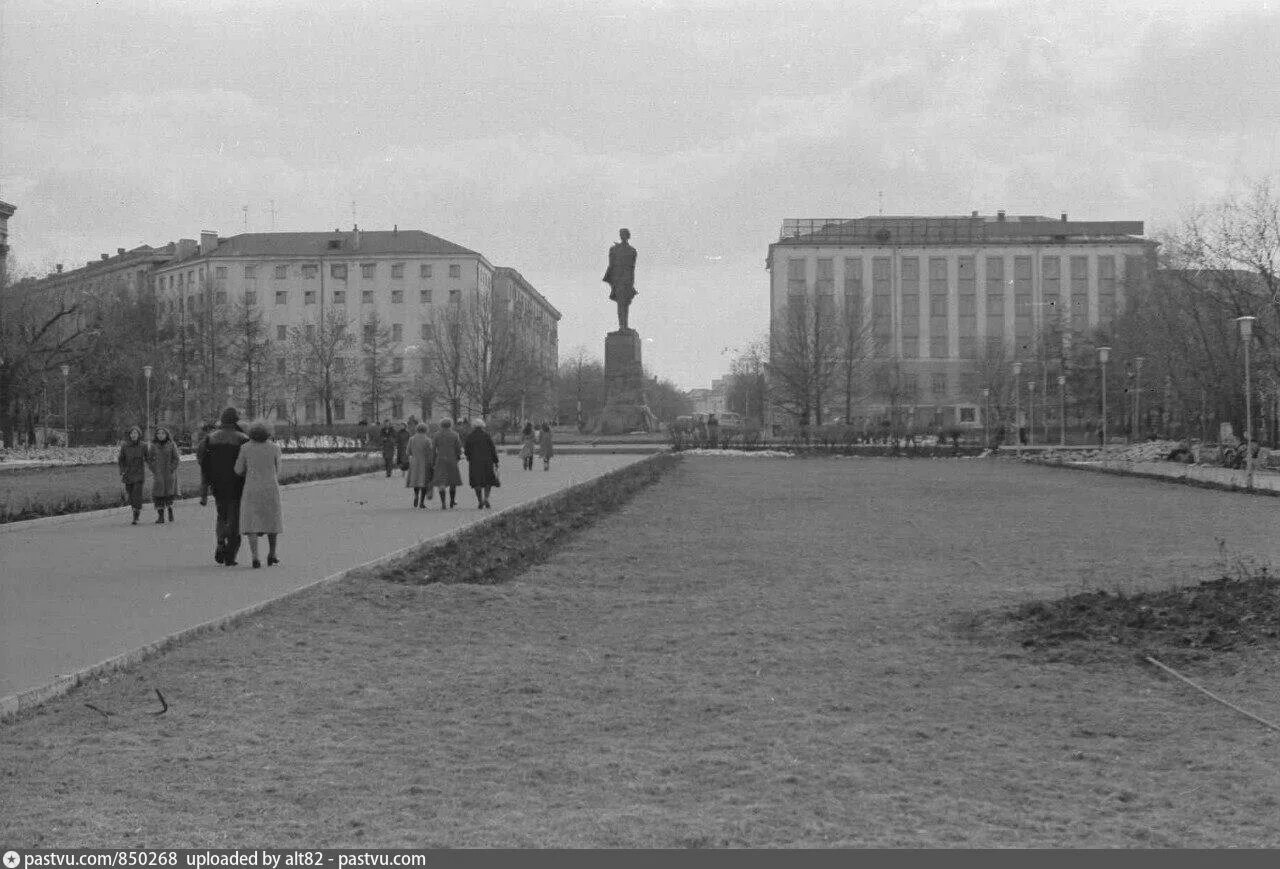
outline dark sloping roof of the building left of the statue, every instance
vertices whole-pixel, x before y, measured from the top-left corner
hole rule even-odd
[[[356,237],[360,237],[358,247]],[[340,247],[330,247],[337,241]],[[209,253],[212,259],[232,256],[375,256],[375,255],[426,255],[426,256],[480,256],[461,244],[431,235],[420,229],[366,230],[358,233],[242,233],[219,238],[218,247]],[[195,257],[200,257],[197,253]]]

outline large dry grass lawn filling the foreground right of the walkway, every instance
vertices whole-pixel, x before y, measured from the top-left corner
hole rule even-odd
[[[1275,511],[992,461],[690,458],[509,584],[311,593],[4,726],[3,838],[1280,846],[1280,735],[956,630],[1212,578],[1216,536],[1272,558]],[[1277,664],[1189,673],[1275,718]]]

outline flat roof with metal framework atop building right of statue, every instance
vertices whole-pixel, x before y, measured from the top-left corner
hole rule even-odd
[[[1140,220],[1068,220],[1041,215],[788,218],[777,244],[983,244],[1016,241],[1119,241],[1143,234]],[[1144,238],[1135,242],[1153,243]]]

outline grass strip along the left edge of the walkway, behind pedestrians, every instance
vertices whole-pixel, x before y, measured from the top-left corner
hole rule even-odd
[[[280,482],[306,482],[369,474],[381,467],[381,458],[301,458],[288,456],[280,465]],[[200,494],[200,471],[183,462],[178,468],[182,498]],[[151,479],[143,489],[151,499]],[[0,475],[0,523],[45,516],[65,516],[109,509],[128,503],[114,465],[77,465],[6,471]]]

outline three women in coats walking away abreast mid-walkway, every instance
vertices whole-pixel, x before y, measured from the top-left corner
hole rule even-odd
[[[476,509],[489,509],[489,491],[499,485],[498,448],[483,419],[472,421],[466,439],[453,430],[453,420],[440,420],[440,430],[434,435],[428,433],[425,422],[420,422],[417,433],[408,439],[407,452],[404,485],[413,489],[413,507],[425,508],[433,488],[440,490],[440,509],[457,507],[458,486],[462,485],[458,462],[466,456],[467,482],[476,493]]]

